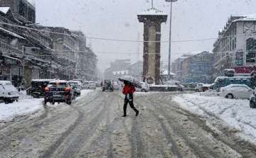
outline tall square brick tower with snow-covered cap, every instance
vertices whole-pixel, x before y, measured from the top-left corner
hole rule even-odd
[[[167,14],[152,7],[139,13],[140,23],[144,23],[143,80],[149,84],[160,84],[161,23]]]

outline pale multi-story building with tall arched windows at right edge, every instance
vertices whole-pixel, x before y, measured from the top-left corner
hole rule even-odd
[[[256,15],[230,16],[213,45],[215,76],[224,69],[256,64]]]

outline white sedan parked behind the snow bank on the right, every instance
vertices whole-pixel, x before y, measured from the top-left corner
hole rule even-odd
[[[250,98],[253,90],[245,84],[230,84],[220,88],[220,96],[225,98]]]

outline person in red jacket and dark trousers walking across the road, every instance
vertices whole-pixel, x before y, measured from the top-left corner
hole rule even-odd
[[[132,85],[129,81],[124,81],[124,88],[123,88],[123,94],[124,97],[124,115],[123,117],[127,116],[127,104],[129,103],[129,106],[132,108],[132,110],[135,111],[136,116],[139,115],[139,111],[134,107],[133,103],[133,93],[136,91],[134,85]]]

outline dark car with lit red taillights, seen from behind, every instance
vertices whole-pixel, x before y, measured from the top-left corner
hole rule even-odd
[[[75,99],[74,91],[68,84],[68,81],[50,81],[50,84],[46,86],[46,95],[44,103],[72,103]]]

